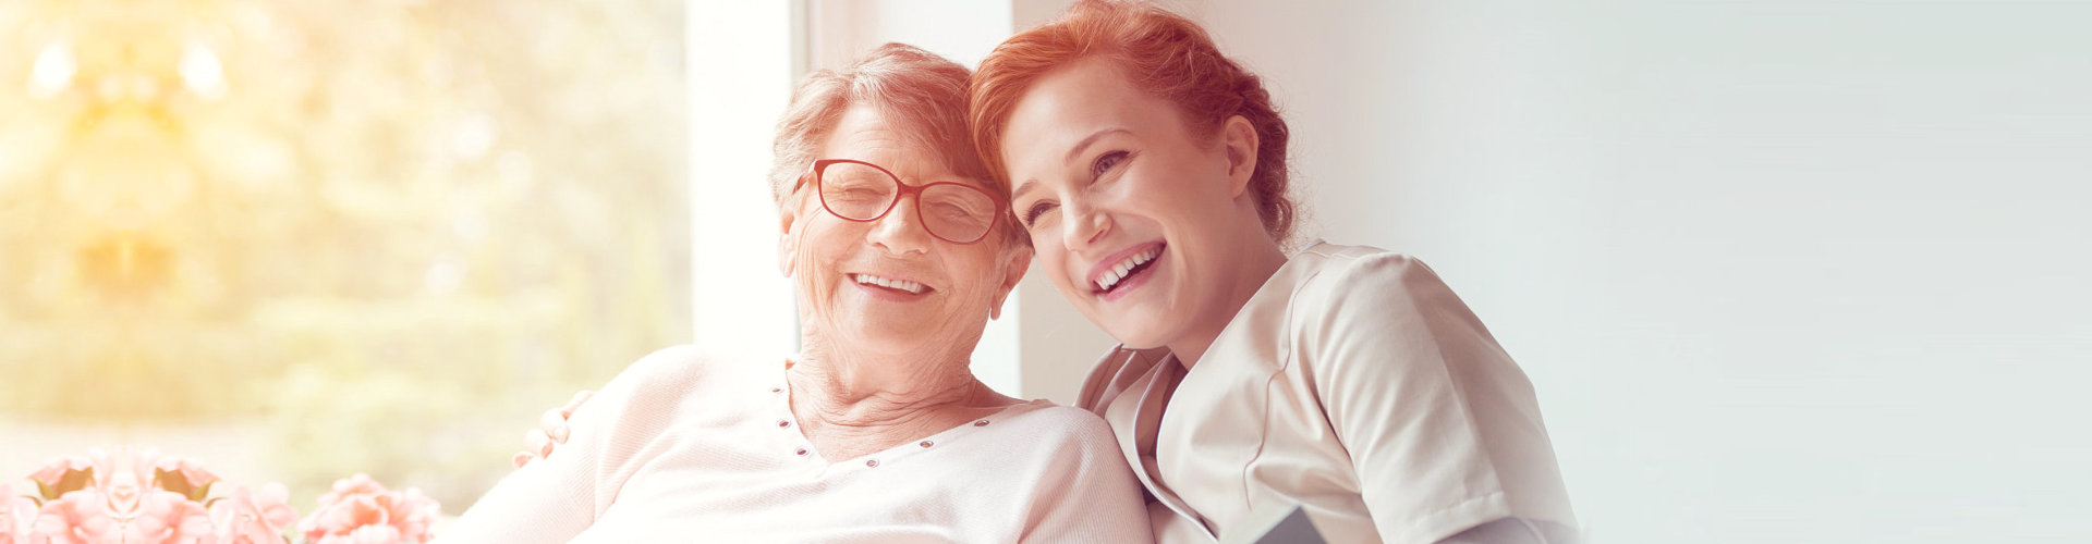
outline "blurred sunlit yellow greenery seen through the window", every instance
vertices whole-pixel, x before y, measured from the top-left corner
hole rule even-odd
[[[680,2],[29,0],[0,44],[0,412],[456,508],[688,337]]]

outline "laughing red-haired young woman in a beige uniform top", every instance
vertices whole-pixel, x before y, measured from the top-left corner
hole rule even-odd
[[[1328,542],[1563,542],[1533,387],[1414,257],[1291,234],[1287,126],[1184,17],[1079,2],[975,71],[1040,274],[1123,345],[1090,372],[1161,542],[1299,504]]]

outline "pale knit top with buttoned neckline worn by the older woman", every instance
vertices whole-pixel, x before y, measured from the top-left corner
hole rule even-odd
[[[799,433],[784,362],[669,347],[634,362],[439,542],[1151,542],[1098,416],[1004,408],[860,458]]]

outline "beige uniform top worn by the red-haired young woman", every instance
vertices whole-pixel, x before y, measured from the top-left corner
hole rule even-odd
[[[1316,243],[1188,372],[1167,349],[1121,345],[1079,406],[1117,433],[1159,542],[1211,542],[1291,504],[1328,542],[1575,523],[1525,372],[1408,255]]]

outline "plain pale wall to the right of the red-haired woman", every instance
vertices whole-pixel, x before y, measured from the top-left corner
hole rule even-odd
[[[1594,542],[2092,538],[2092,6],[1174,2],[1425,257]]]

